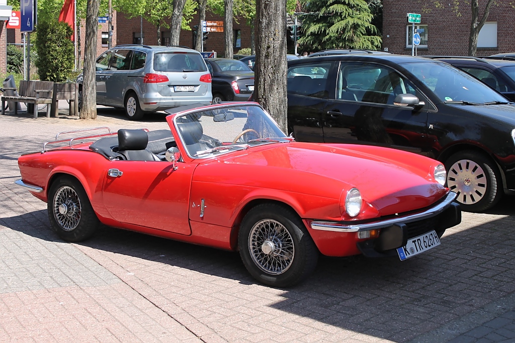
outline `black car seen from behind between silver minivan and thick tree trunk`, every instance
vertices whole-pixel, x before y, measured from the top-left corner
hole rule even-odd
[[[206,59],[212,77],[213,103],[247,101],[254,91],[254,72],[243,62],[213,58]]]

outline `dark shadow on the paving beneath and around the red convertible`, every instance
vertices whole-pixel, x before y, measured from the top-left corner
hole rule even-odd
[[[50,242],[60,241],[49,228],[45,210],[3,218],[0,224]],[[515,292],[512,233],[513,219],[508,216],[448,231],[441,246],[406,261],[322,257],[313,276],[284,290],[284,300],[271,307],[404,342]],[[80,244],[242,284],[255,283],[237,252],[105,226]]]

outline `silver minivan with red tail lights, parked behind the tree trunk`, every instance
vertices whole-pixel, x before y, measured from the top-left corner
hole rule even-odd
[[[80,74],[79,106],[82,79]],[[96,60],[97,104],[123,107],[131,120],[141,119],[147,111],[211,101],[211,74],[196,50],[127,44]]]

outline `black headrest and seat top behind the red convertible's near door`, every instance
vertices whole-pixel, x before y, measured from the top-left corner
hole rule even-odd
[[[118,154],[129,161],[160,161],[147,150],[148,135],[144,130],[118,130]]]

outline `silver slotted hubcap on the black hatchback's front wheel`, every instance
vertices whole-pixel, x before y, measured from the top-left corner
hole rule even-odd
[[[486,193],[488,179],[483,168],[470,159],[461,159],[452,165],[447,175],[447,186],[458,196],[461,204],[471,205]]]

